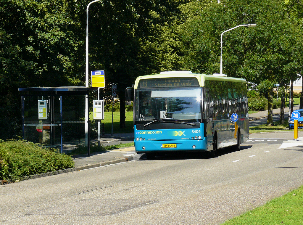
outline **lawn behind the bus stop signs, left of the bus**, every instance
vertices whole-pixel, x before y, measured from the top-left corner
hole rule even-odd
[[[90,113],[90,119],[93,118],[93,113]],[[133,112],[125,112],[125,126],[126,128],[120,128],[120,112],[114,112],[113,118],[113,133],[133,133],[134,122]],[[112,112],[104,112],[104,133],[112,133]]]

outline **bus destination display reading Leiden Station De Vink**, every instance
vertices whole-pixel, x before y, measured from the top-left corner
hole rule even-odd
[[[140,88],[154,87],[199,87],[198,79],[193,77],[171,77],[158,79],[142,79],[140,80]]]

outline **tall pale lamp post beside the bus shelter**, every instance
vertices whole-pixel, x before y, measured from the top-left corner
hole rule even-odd
[[[95,0],[88,3],[86,7],[86,59],[85,59],[85,87],[88,87],[88,8],[89,6],[101,0]],[[88,95],[85,95],[85,142],[88,143]],[[88,143],[89,147],[89,143]]]

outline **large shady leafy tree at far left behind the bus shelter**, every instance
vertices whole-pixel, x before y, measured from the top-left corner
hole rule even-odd
[[[2,0],[0,138],[20,133],[18,87],[64,86],[73,79],[77,39],[62,1]]]

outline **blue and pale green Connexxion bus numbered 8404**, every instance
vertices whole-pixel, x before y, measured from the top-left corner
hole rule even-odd
[[[246,80],[190,71],[139,76],[134,89],[134,143],[147,158],[180,151],[208,152],[249,138]],[[126,90],[130,101],[131,89]]]

